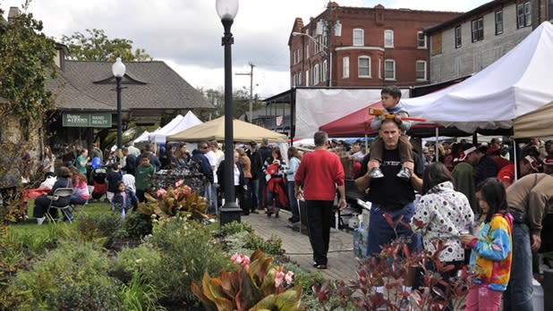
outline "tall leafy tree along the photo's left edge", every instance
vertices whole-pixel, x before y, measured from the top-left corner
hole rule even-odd
[[[55,42],[41,30],[42,22],[32,14],[0,21],[0,189],[12,193],[4,197],[7,208],[0,208],[0,222],[21,220],[25,213],[17,198],[21,175],[29,176],[32,183],[28,151],[38,148],[43,120],[55,108],[54,95],[46,89],[48,75],[54,78],[56,72]]]

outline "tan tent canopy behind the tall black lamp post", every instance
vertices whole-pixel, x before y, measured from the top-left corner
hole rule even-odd
[[[287,139],[285,134],[236,119],[233,120],[233,131],[235,142],[249,142],[250,140],[259,142],[261,139],[268,139],[269,142],[286,142]],[[167,136],[167,139],[186,141],[225,140],[225,116],[192,126],[188,130]]]

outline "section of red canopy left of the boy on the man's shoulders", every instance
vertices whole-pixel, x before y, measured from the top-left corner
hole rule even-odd
[[[370,129],[370,122],[374,118],[373,115],[369,114],[370,108],[381,109],[382,102],[378,101],[338,120],[324,124],[319,127],[319,130],[326,131],[329,137],[359,137],[364,134],[373,135],[376,131]]]

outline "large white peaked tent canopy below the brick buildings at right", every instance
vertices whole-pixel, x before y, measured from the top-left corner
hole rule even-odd
[[[471,78],[402,100],[414,117],[472,132],[508,129],[513,120],[553,100],[553,25],[543,22],[506,55]]]

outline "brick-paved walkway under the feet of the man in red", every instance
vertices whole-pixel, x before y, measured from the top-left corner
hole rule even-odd
[[[259,214],[242,216],[243,223],[250,223],[255,232],[262,238],[271,235],[282,240],[285,255],[307,271],[319,271],[328,280],[352,280],[357,269],[357,261],[353,254],[353,235],[351,232],[330,230],[330,250],[328,252],[328,269],[318,270],[312,266],[313,252],[307,235],[307,227],[301,223],[291,224],[288,211],[281,210],[280,218],[267,217],[263,211]]]

